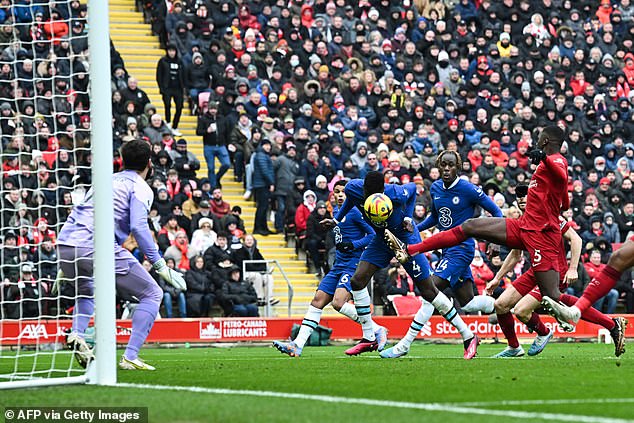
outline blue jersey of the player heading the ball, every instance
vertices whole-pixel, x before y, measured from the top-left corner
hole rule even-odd
[[[403,220],[406,217],[411,218],[414,214],[414,205],[416,204],[416,184],[409,183],[405,185],[385,184],[383,193],[392,201],[392,214],[387,219],[386,228],[399,238],[407,239],[411,235],[403,228]],[[363,219],[369,223],[375,231],[382,233],[382,227],[375,226],[372,221],[363,212],[363,203],[365,197],[363,195],[363,179],[353,179],[346,184],[346,201],[336,214],[337,221],[341,221],[346,214],[356,207],[363,216]]]

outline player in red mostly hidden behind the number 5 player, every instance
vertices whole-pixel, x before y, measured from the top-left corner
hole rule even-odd
[[[526,192],[526,185],[520,185],[516,188],[517,205],[522,212],[524,212],[526,208]],[[559,289],[560,291],[563,291],[567,288],[569,283],[574,283],[577,280],[577,267],[581,256],[582,241],[577,232],[571,227],[570,222],[566,221],[563,217],[559,218],[559,222],[562,235],[561,250],[558,257],[559,268],[562,271],[564,269],[568,269],[564,275],[560,274],[561,281]],[[570,242],[570,264],[568,264],[566,259],[564,239],[567,239]],[[504,260],[504,263],[497,275],[487,284],[487,293],[490,294],[493,292],[493,290],[499,285],[499,281],[503,275],[510,271],[520,259],[521,251],[511,251],[506,260]],[[526,324],[531,331],[537,333],[533,344],[528,350],[528,355],[534,356],[544,350],[552,338],[553,332],[546,328],[539,315],[535,313],[535,310],[540,306],[541,300],[542,295],[539,288],[536,287],[535,275],[533,270],[530,269],[528,272],[516,279],[512,286],[506,288],[504,293],[495,301],[496,314],[498,316],[503,316],[501,319],[498,317],[498,321],[500,322],[502,332],[508,341],[508,347],[495,355],[495,357],[509,358],[521,357],[524,355],[524,350],[520,346],[517,335],[515,334],[514,322],[511,319],[510,324],[508,324],[508,319],[504,318],[504,315],[510,313],[511,308],[513,307],[514,314],[517,319]],[[561,294],[560,301],[570,305],[577,301],[577,297],[568,294]],[[627,320],[623,317],[612,319],[593,308],[588,309],[582,318],[591,323],[603,326],[610,331],[610,335],[614,340],[614,354],[617,357],[625,352],[624,332]],[[567,325],[564,329],[572,329],[572,326]]]

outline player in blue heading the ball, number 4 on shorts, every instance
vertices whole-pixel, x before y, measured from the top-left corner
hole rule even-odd
[[[372,320],[370,319],[370,296],[365,287],[377,270],[387,267],[394,253],[384,239],[385,229],[389,229],[395,236],[403,242],[420,242],[420,233],[415,230],[412,224],[412,215],[416,202],[416,184],[405,185],[385,184],[381,172],[368,172],[364,179],[353,179],[346,185],[346,201],[339,209],[334,219],[324,219],[321,223],[325,227],[332,227],[353,208],[361,209],[363,218],[370,223],[377,236],[375,236],[368,247],[361,255],[359,266],[357,267],[351,280],[352,296],[357,314],[363,328],[363,339],[351,350],[351,353],[360,354],[366,351],[374,351],[378,348],[378,343],[374,335]],[[372,194],[381,193],[389,197],[392,202],[392,211],[382,226],[365,215],[363,205],[366,198]],[[475,357],[479,339],[469,330],[462,318],[458,315],[452,302],[445,294],[438,291],[430,278],[429,262],[424,255],[413,257],[406,262],[403,267],[412,277],[414,283],[420,290],[423,298],[430,302],[440,314],[456,327],[464,341],[464,358]],[[425,306],[423,306],[425,307]],[[426,307],[425,311],[430,316],[433,307]]]

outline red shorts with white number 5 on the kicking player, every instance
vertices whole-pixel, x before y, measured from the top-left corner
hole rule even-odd
[[[519,219],[506,219],[506,245],[509,248],[528,251],[533,271],[559,272],[559,230],[527,231],[520,228]]]

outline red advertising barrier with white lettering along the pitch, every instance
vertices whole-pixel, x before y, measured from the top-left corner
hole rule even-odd
[[[634,321],[634,315],[624,315]],[[564,338],[595,338],[599,326],[579,322],[572,333],[567,333],[550,316],[542,316],[547,327],[555,330],[555,336]],[[481,338],[502,338],[497,325],[489,323],[486,316],[463,316],[472,331]],[[375,317],[378,324],[389,330],[390,338],[400,338],[407,332],[411,317]],[[259,319],[259,318],[227,318],[227,319],[159,319],[154,323],[148,342],[158,343],[195,343],[195,342],[236,342],[236,341],[270,341],[287,339],[293,324],[301,323],[298,319]],[[358,339],[361,328],[346,318],[324,318],[323,326],[333,329],[331,339]],[[71,326],[70,320],[41,320],[22,322],[2,322],[2,346],[62,342],[66,328]],[[130,320],[117,321],[117,342],[125,344],[130,338]],[[515,322],[515,330],[520,338],[533,337],[526,326]],[[628,325],[628,337],[634,337],[633,325]],[[419,339],[458,338],[456,329],[440,316],[433,316],[425,325]]]

